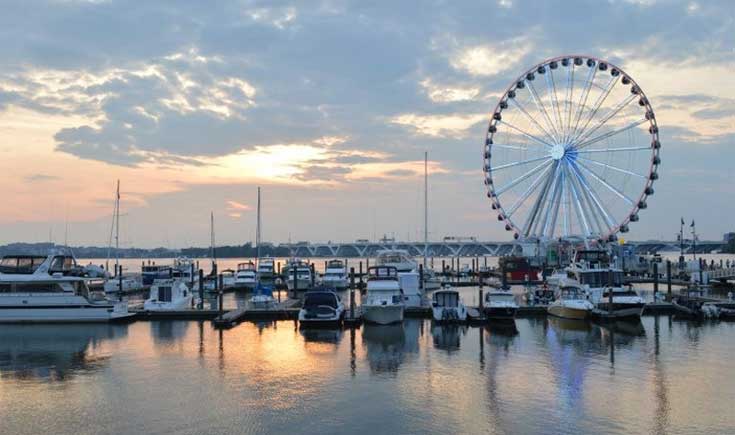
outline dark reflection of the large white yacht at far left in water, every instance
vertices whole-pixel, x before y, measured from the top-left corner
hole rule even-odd
[[[109,356],[96,351],[108,340],[125,338],[128,325],[3,325],[0,377],[66,381],[105,367]]]

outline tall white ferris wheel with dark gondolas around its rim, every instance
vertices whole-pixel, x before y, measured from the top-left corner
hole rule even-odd
[[[521,74],[493,111],[487,196],[515,239],[612,241],[647,207],[660,147],[651,103],[628,74],[556,57]]]

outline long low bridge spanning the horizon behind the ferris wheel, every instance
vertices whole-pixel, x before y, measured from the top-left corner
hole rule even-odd
[[[679,251],[679,242],[633,241],[626,245],[634,246],[638,254],[655,254],[663,251]],[[291,249],[298,257],[374,257],[383,249],[403,249],[410,255],[424,254],[423,242],[368,242],[354,243],[308,243],[282,244]],[[724,242],[697,242],[697,253],[709,254],[724,248]],[[430,257],[482,257],[520,254],[521,245],[517,242],[482,242],[476,240],[448,240],[429,242],[427,255]],[[685,254],[691,254],[691,246],[684,247]]]

